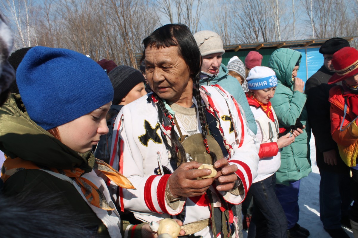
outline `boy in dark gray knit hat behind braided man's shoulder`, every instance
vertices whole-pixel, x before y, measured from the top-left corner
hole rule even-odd
[[[95,150],[95,157],[109,163],[111,155],[113,125],[124,105],[135,101],[146,94],[143,74],[126,65],[120,65],[108,73],[112,82],[114,96],[112,106],[107,113],[109,132],[102,135]]]

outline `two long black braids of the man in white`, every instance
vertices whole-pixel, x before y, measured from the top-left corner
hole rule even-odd
[[[194,97],[197,101],[198,105],[198,113],[199,113],[199,120],[200,125],[202,127],[202,137],[203,137],[203,143],[206,148],[206,152],[211,156],[213,163],[216,161],[216,155],[214,152],[209,150],[209,145],[207,143],[207,121],[205,116],[205,108],[203,107],[202,98],[200,97],[200,85],[199,85],[199,78],[195,81],[195,93]],[[183,145],[180,143],[178,135],[175,132],[175,124],[174,124],[174,118],[171,117],[169,111],[166,109],[164,102],[161,98],[158,97],[155,93],[153,93],[154,97],[158,100],[159,107],[164,113],[164,116],[168,118],[168,120],[171,122],[171,130],[170,130],[170,142],[171,146],[168,148],[171,154],[170,160],[174,160],[176,162],[182,163],[187,161],[187,157],[185,155],[185,150]],[[159,112],[160,113],[160,112]],[[176,149],[175,149],[176,148]],[[178,155],[180,157],[178,157]]]

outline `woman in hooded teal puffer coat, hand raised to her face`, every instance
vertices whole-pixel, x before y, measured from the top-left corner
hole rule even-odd
[[[291,145],[282,148],[281,166],[276,172],[276,195],[287,217],[288,237],[304,238],[309,232],[297,224],[298,194],[300,179],[312,169],[309,147],[311,130],[305,108],[304,82],[296,78],[301,57],[301,53],[296,50],[277,49],[271,54],[269,67],[275,71],[279,81],[271,105],[276,112],[280,132],[305,126],[303,133]]]

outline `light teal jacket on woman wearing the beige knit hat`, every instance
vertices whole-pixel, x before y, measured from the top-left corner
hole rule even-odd
[[[218,77],[211,77],[209,79],[200,79],[201,85],[214,85],[218,84],[223,89],[228,91],[236,101],[241,105],[242,109],[245,112],[245,117],[248,123],[248,127],[250,130],[255,133],[257,132],[257,125],[255,122],[255,118],[253,117],[250,106],[248,105],[246,95],[242,90],[241,84],[237,81],[236,78],[228,75],[229,71],[224,64],[220,65]]]

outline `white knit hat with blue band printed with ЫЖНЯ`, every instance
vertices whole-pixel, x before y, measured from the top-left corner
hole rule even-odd
[[[248,89],[260,90],[277,86],[277,77],[275,72],[264,66],[256,66],[250,70],[246,78]]]

